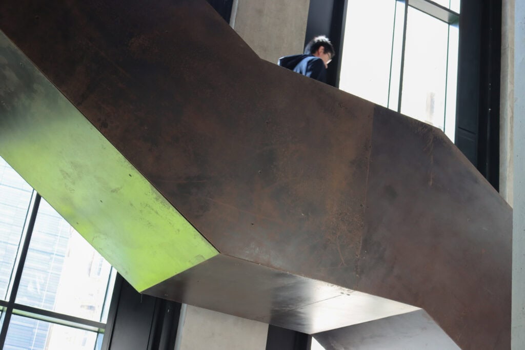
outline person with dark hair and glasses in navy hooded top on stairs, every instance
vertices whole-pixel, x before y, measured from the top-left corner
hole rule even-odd
[[[279,58],[278,65],[326,82],[328,63],[335,55],[332,43],[324,35],[316,36],[304,47],[304,54]]]

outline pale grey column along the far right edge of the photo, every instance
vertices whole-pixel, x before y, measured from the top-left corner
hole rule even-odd
[[[525,1],[514,7],[512,349],[525,349]]]

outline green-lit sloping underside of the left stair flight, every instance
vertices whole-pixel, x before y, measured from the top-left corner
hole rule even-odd
[[[0,155],[138,291],[218,253],[1,32]]]

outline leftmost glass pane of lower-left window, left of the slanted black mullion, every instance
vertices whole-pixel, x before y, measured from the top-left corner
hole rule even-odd
[[[0,299],[6,300],[33,188],[0,158]]]

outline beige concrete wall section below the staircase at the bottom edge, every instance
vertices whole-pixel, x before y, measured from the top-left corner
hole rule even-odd
[[[266,323],[183,305],[175,350],[265,350],[267,336]]]

